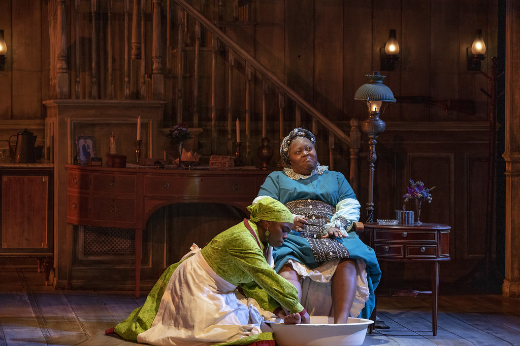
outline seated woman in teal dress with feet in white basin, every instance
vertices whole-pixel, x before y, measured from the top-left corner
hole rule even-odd
[[[378,260],[351,231],[360,210],[352,187],[319,164],[315,144],[309,131],[291,131],[280,146],[286,167],[267,176],[253,203],[271,197],[293,213],[293,231],[273,251],[275,270],[298,289],[309,314],[332,314],[334,323],[349,315],[368,319],[381,278]],[[302,285],[313,294],[302,297]]]

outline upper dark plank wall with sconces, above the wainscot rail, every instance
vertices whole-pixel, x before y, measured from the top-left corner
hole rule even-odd
[[[92,81],[92,13],[90,1],[80,2],[80,23],[76,23],[74,2],[65,1],[71,98],[89,99]],[[124,98],[124,1],[112,1],[112,57],[107,56],[107,8],[98,2],[96,24],[99,48],[100,99],[107,92],[108,60],[113,63],[114,98]],[[105,5],[103,5],[105,4]],[[194,1],[194,5],[199,1]],[[497,54],[497,5],[489,0],[373,0],[353,3],[342,0],[252,1],[253,22],[236,26],[232,20],[232,1],[225,1],[226,32],[264,63],[271,71],[332,119],[362,117],[365,109],[353,95],[365,83],[364,75],[380,70],[380,49],[389,29],[397,30],[400,59],[395,71],[387,75],[385,84],[396,95],[427,95],[435,100],[471,99],[477,114],[468,116],[440,108],[402,104],[388,108],[387,120],[485,120],[487,98],[480,92],[487,81],[478,72],[466,70],[466,48],[471,47],[476,29],[482,29],[487,46],[482,70],[490,73],[491,56]],[[151,5],[146,9],[145,32],[151,35]],[[200,5],[200,4],[199,4]],[[42,118],[42,101],[49,93],[49,13],[53,16],[55,1],[7,0],[0,3],[0,23],[8,45],[6,70],[0,73],[0,118]],[[166,23],[165,6],[162,2]],[[175,8],[175,7],[174,7]],[[206,16],[217,17],[217,5],[205,4]],[[175,11],[173,11],[175,12]],[[172,16],[175,26],[176,16]],[[31,25],[27,25],[31,23]],[[226,26],[233,24],[233,26]],[[254,25],[251,25],[254,24]],[[80,25],[80,41],[75,29]],[[245,29],[244,29],[245,28]],[[165,30],[164,30],[165,32]],[[166,41],[166,35],[163,35]],[[53,39],[56,39],[53,37]],[[172,35],[174,43],[176,37]],[[206,45],[209,44],[206,43]],[[76,46],[80,66],[76,68]],[[151,39],[146,40],[147,51]],[[166,49],[163,49],[166,60]],[[146,73],[151,72],[151,57],[146,58]],[[150,61],[148,61],[150,60]],[[163,71],[167,72],[163,63]],[[76,74],[81,78],[81,91],[75,93]],[[171,90],[174,92],[175,90]],[[166,95],[166,99],[173,95]],[[259,112],[256,102],[255,114]],[[189,110],[189,109],[187,109]],[[201,120],[207,118],[201,114]]]

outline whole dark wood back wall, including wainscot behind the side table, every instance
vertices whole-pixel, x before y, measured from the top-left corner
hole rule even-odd
[[[151,2],[144,0],[145,9],[145,71],[151,73],[152,16]],[[50,20],[54,16],[55,0],[4,0],[0,1],[0,29],[5,32],[8,45],[5,71],[0,72],[0,119],[43,119],[43,101],[55,97],[51,88],[56,56],[51,54],[52,32]],[[99,12],[94,23],[97,28],[97,54],[99,64],[100,99],[110,99],[107,71],[108,61],[113,63],[113,98],[124,99],[124,0],[112,1],[112,56],[107,49],[108,14],[106,2],[97,2]],[[378,139],[376,163],[376,190],[374,201],[378,217],[392,217],[402,207],[402,194],[408,179],[421,179],[426,185],[436,185],[434,201],[423,207],[422,218],[430,222],[448,223],[453,227],[452,258],[448,281],[471,270],[482,258],[483,203],[487,164],[487,96],[480,89],[489,90],[486,78],[466,69],[466,50],[471,47],[476,29],[483,30],[487,46],[482,70],[490,74],[491,56],[497,55],[498,13],[497,2],[492,0],[371,0],[352,2],[343,0],[252,0],[251,20],[238,22],[233,12],[233,1],[226,0],[219,7],[217,0],[193,0],[193,6],[202,8],[205,16],[220,27],[261,61],[270,71],[320,112],[343,128],[352,118],[366,116],[365,104],[354,101],[357,88],[365,84],[365,74],[380,70],[380,49],[384,48],[390,29],[396,29],[400,44],[399,60],[395,71],[382,71],[385,84],[396,96],[424,95],[434,100],[473,100],[473,115],[449,112],[423,104],[398,103],[386,108],[382,119],[387,130]],[[65,0],[67,23],[68,74],[71,99],[91,99],[93,22],[91,1],[80,0],[80,22],[76,21],[75,2]],[[162,1],[162,40],[166,46],[167,2]],[[132,6],[131,6],[132,7]],[[177,29],[176,7],[172,11],[172,30]],[[131,9],[132,10],[132,9]],[[249,18],[248,18],[249,19]],[[30,24],[28,24],[30,23]],[[80,37],[75,29],[79,25]],[[190,25],[193,25],[192,23]],[[172,31],[171,47],[176,47],[177,35]],[[186,38],[193,40],[190,34]],[[211,68],[211,37],[202,45],[201,71]],[[76,48],[78,48],[76,50]],[[79,54],[76,53],[79,51]],[[56,53],[56,52],[54,52]],[[165,122],[176,122],[176,76],[173,62],[179,52],[163,49],[166,101]],[[171,54],[171,55],[168,55]],[[186,50],[186,54],[192,54]],[[227,121],[225,81],[226,57],[217,54],[216,95],[217,122],[225,128]],[[76,61],[79,58],[79,66]],[[186,75],[190,75],[190,66]],[[244,70],[236,66],[235,78]],[[79,76],[80,88],[75,89]],[[211,81],[201,75],[200,126],[212,122],[209,97]],[[258,83],[258,80],[253,78]],[[189,93],[189,91],[184,91]],[[204,96],[205,95],[205,96]],[[258,123],[262,119],[262,95],[256,91],[252,104],[251,120],[258,139]],[[188,99],[188,98],[186,98]],[[233,99],[233,113],[243,114],[244,94]],[[276,119],[277,105],[269,106],[269,117]],[[294,109],[287,105],[288,124],[294,121]],[[183,103],[184,120],[190,120],[193,104]],[[304,122],[310,127],[309,122]],[[290,126],[290,125],[289,125]],[[0,120],[0,127],[2,121]],[[203,132],[201,150],[212,147],[209,133]],[[275,136],[272,136],[275,137]],[[361,158],[366,157],[366,137],[362,137]],[[327,143],[321,137],[320,145]],[[259,141],[258,141],[259,143]],[[220,145],[220,143],[219,143]],[[278,143],[271,142],[273,147]],[[348,157],[346,148],[336,147],[334,155]],[[277,150],[275,150],[276,152]],[[204,153],[203,153],[204,154]],[[320,159],[327,164],[326,158]],[[366,167],[360,160],[361,186],[366,186]],[[431,169],[433,167],[434,169]],[[336,170],[348,172],[348,163],[339,163]],[[347,174],[346,174],[347,175]],[[356,191],[362,205],[367,191]],[[363,213],[362,213],[363,215]],[[459,266],[461,265],[461,266]],[[403,275],[412,275],[403,269]]]

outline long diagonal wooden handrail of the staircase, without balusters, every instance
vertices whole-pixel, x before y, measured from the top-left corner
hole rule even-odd
[[[201,24],[206,27],[207,30],[211,31],[215,35],[218,36],[220,40],[222,40],[227,46],[231,47],[234,52],[236,52],[242,59],[248,61],[251,66],[255,68],[255,70],[259,71],[263,76],[267,77],[267,79],[277,88],[283,90],[285,94],[290,96],[293,100],[300,104],[300,106],[305,109],[305,111],[310,114],[313,118],[317,119],[324,127],[329,129],[334,133],[335,136],[339,137],[339,139],[350,145],[350,137],[345,134],[339,127],[337,127],[332,121],[324,117],[316,108],[311,106],[307,101],[305,101],[300,95],[298,95],[294,90],[289,88],[280,78],[278,78],[274,73],[270,72],[267,67],[258,62],[254,57],[252,57],[248,52],[242,49],[235,41],[233,41],[229,36],[222,32],[218,26],[213,24],[209,19],[204,17],[196,8],[188,4],[185,0],[173,0],[179,6],[183,7],[186,12],[188,12],[192,17],[196,18],[201,22]]]

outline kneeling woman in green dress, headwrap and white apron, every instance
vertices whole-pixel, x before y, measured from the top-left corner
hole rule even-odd
[[[144,306],[107,334],[154,345],[274,345],[264,320],[278,316],[286,323],[309,323],[296,288],[265,257],[269,245],[287,239],[292,214],[272,198],[248,210],[249,220],[218,234],[202,249],[192,246],[168,267]],[[248,299],[239,299],[237,286]]]

